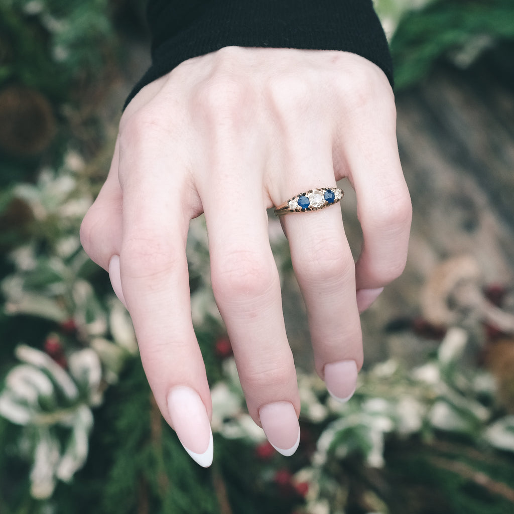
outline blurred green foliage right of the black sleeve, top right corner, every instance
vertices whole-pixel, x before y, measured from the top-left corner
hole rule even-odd
[[[407,13],[391,41],[397,89],[423,79],[442,57],[467,66],[484,49],[513,41],[513,19],[511,0],[439,0]]]

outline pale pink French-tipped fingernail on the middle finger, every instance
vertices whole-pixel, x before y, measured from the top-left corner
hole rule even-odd
[[[262,428],[271,446],[289,457],[300,443],[300,424],[289,401],[268,403],[259,410]]]

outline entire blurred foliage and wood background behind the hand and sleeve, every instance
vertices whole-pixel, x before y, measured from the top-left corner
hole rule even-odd
[[[514,511],[514,3],[375,4],[414,207],[406,271],[362,316],[365,367],[341,406],[312,372],[270,217],[302,399],[300,448],[285,458],[246,412],[203,218],[192,222],[214,404],[203,469],[161,418],[130,318],[78,238],[149,64],[144,1],[1,0],[1,514]],[[355,196],[341,187],[357,254]]]

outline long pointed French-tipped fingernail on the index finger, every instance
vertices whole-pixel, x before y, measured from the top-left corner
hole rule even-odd
[[[168,411],[184,449],[197,464],[208,468],[212,464],[212,430],[198,393],[186,386],[173,388],[168,394]]]

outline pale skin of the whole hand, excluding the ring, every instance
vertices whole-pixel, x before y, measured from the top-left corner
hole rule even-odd
[[[162,415],[201,465],[212,406],[191,321],[189,222],[205,213],[214,296],[248,411],[290,454],[300,401],[266,209],[343,177],[357,195],[357,263],[337,206],[281,221],[316,371],[345,400],[363,360],[359,313],[407,257],[411,203],[383,72],[342,51],[227,47],[145,86],[123,113],[81,240],[130,311]]]

